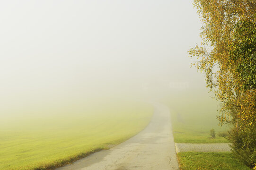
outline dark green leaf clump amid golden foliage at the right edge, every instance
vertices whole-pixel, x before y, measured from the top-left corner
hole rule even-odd
[[[230,59],[237,63],[242,88],[256,89],[256,23],[239,21],[235,28],[234,40],[229,47]]]

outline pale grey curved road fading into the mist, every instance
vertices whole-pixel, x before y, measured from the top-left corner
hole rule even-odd
[[[122,144],[57,170],[178,170],[170,112],[154,104],[149,125]]]

